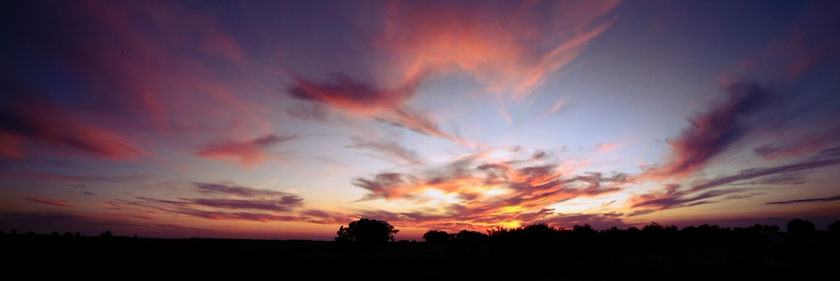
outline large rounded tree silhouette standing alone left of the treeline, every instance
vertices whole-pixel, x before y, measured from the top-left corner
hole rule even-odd
[[[400,232],[387,221],[361,218],[350,221],[347,227],[339,227],[336,232],[336,242],[359,242],[364,244],[385,243],[394,241],[394,234]]]

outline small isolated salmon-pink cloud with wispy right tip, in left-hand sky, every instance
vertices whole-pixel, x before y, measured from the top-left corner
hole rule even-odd
[[[265,149],[294,138],[296,136],[267,134],[245,142],[213,143],[204,146],[195,156],[205,159],[234,159],[247,168],[265,160]]]

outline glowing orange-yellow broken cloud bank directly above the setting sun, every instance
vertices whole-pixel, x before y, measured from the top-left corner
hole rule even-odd
[[[388,221],[407,226],[454,224],[471,229],[519,226],[551,219],[559,223],[560,215],[554,214],[549,206],[615,193],[627,182],[626,174],[564,174],[567,164],[551,163],[544,152],[538,152],[542,154],[538,159],[533,159],[528,150],[509,153],[507,156],[500,156],[501,151],[465,154],[446,164],[412,173],[387,172],[356,178],[352,184],[368,191],[360,200],[407,200],[417,206],[414,211],[362,211],[361,214],[386,217]],[[570,221],[569,217],[565,218],[566,222]],[[615,218],[605,220],[620,221]]]

